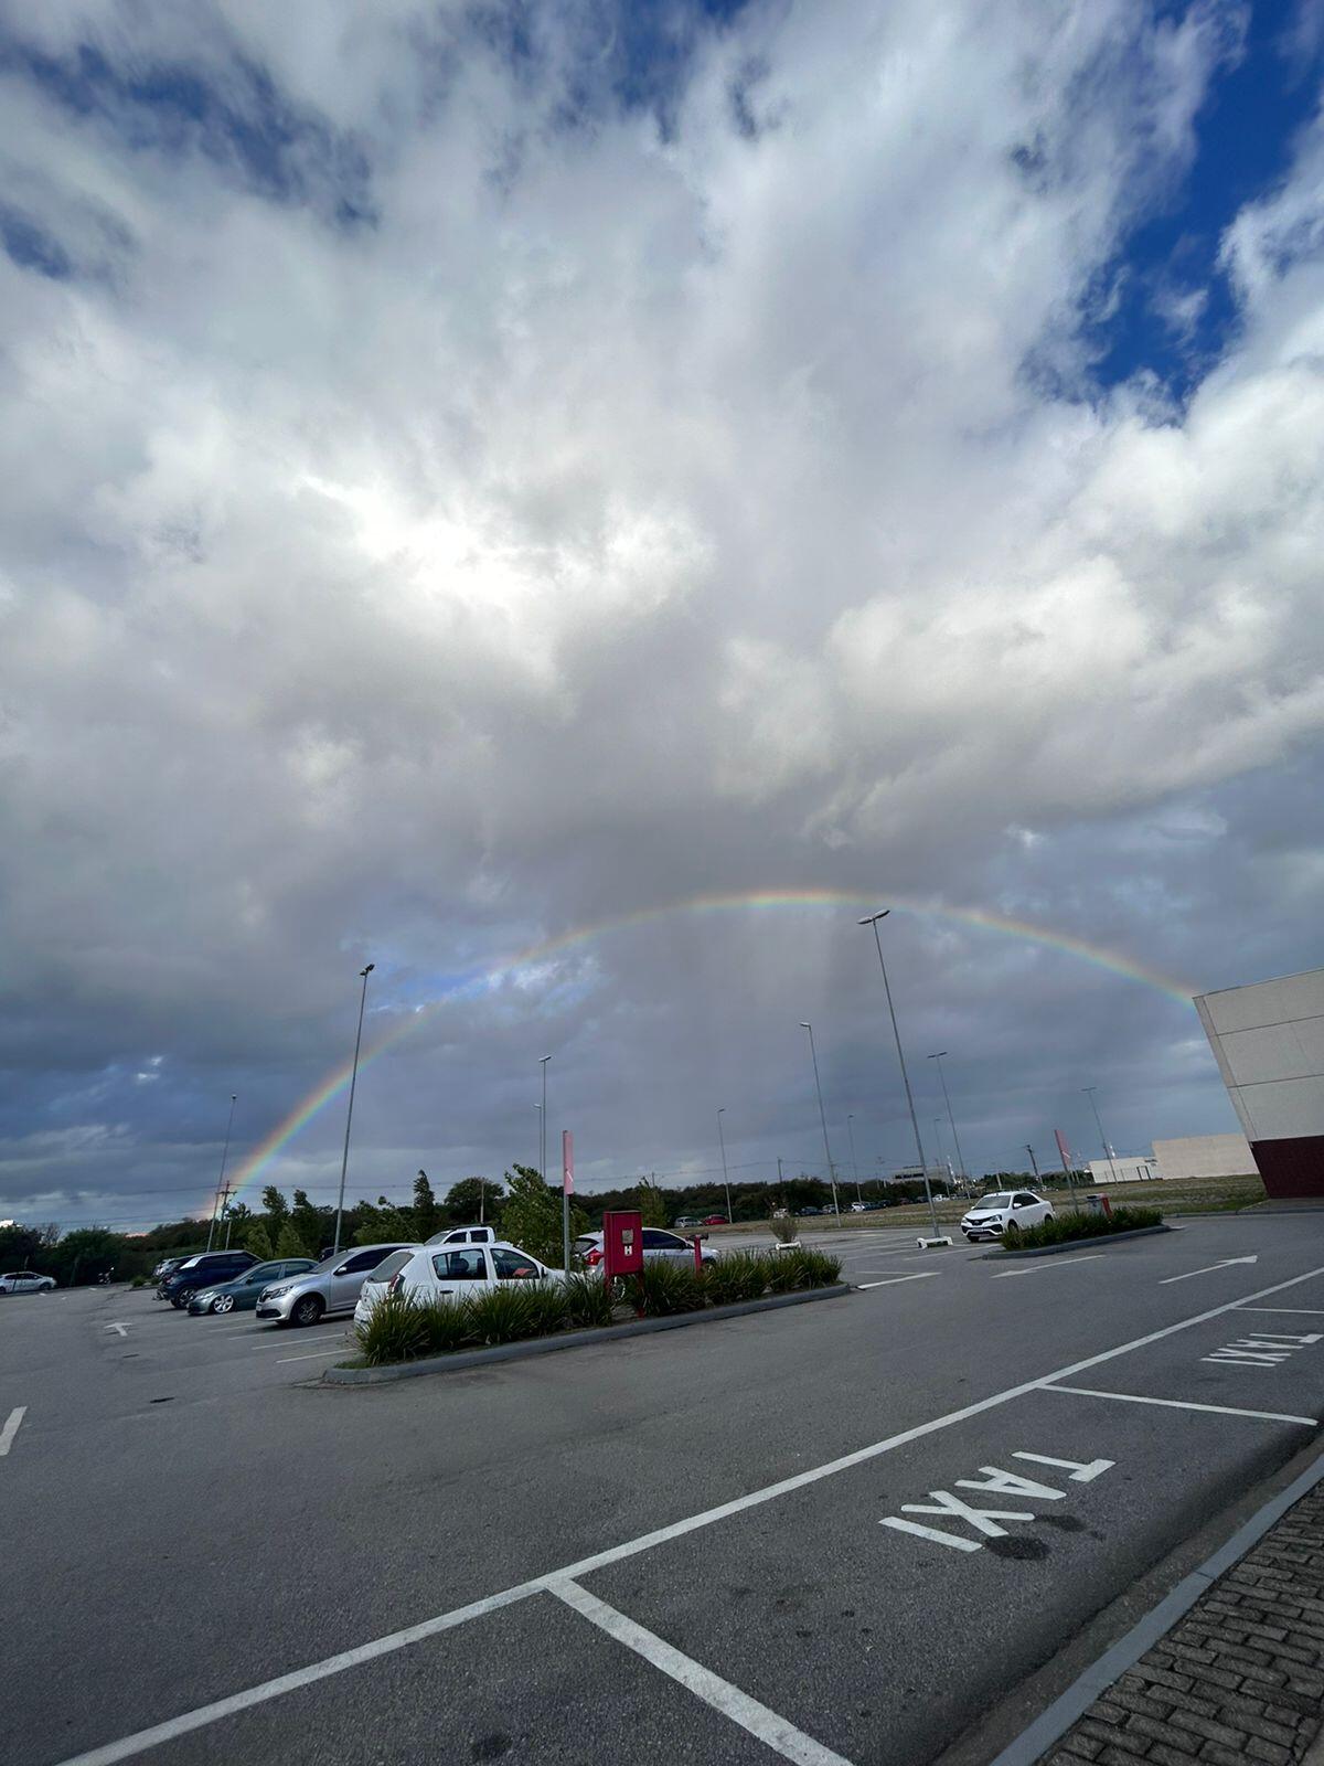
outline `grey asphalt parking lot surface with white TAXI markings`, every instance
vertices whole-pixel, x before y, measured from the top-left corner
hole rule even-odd
[[[1317,1443],[1315,1217],[833,1250],[846,1300],[371,1390],[344,1321],[0,1303],[12,1757],[990,1759]]]

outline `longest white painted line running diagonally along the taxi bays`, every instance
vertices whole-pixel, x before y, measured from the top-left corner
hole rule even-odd
[[[327,1679],[330,1674],[341,1674],[344,1669],[360,1667],[364,1662],[374,1662],[385,1655],[394,1655],[397,1649],[408,1649],[411,1644],[422,1642],[427,1637],[436,1637],[440,1632],[452,1630],[455,1625],[464,1625],[468,1619],[496,1612],[500,1607],[514,1605],[519,1600],[528,1600],[530,1595],[545,1593],[558,1582],[577,1581],[590,1575],[593,1570],[604,1570],[607,1565],[621,1563],[627,1558],[636,1558],[639,1552],[651,1551],[655,1545],[666,1545],[671,1540],[685,1538],[688,1533],[697,1533],[701,1528],[715,1526],[718,1521],[740,1515],[747,1508],[757,1508],[761,1503],[770,1503],[779,1496],[789,1496],[791,1491],[803,1491],[812,1483],[819,1483],[823,1478],[833,1478],[840,1471],[851,1471],[854,1466],[865,1466],[869,1460],[874,1460],[883,1453],[891,1453],[897,1448],[909,1446],[911,1441],[922,1441],[925,1436],[937,1434],[943,1429],[952,1429],[957,1423],[967,1422],[971,1416],[982,1416],[985,1411],[999,1409],[1013,1399],[1024,1399],[1031,1392],[1054,1390],[1054,1381],[1070,1379],[1072,1374],[1084,1374],[1089,1367],[1102,1367],[1103,1362],[1114,1362],[1117,1356],[1133,1355],[1137,1349],[1147,1349],[1149,1344],[1163,1342],[1177,1332],[1193,1330],[1197,1324],[1207,1324],[1209,1319],[1223,1317],[1225,1312],[1236,1312],[1239,1307],[1246,1305],[1246,1302],[1268,1300],[1269,1294],[1287,1293],[1287,1289],[1299,1287],[1301,1282],[1312,1282],[1319,1275],[1324,1275],[1324,1264],[1306,1270],[1303,1275],[1292,1275],[1285,1282],[1275,1282],[1273,1287],[1260,1287],[1253,1294],[1241,1294],[1239,1300],[1225,1300],[1222,1305],[1209,1307],[1204,1312],[1193,1312],[1186,1319],[1177,1319],[1176,1324],[1163,1324],[1160,1330],[1147,1332],[1144,1337],[1133,1337],[1130,1342],[1117,1344],[1114,1349],[1102,1349],[1098,1355],[1086,1356],[1082,1362],[1072,1362],[1070,1367],[1059,1367],[1052,1374],[1042,1374],[1038,1379],[1026,1379],[1019,1386],[1008,1386],[1004,1392],[996,1392],[989,1399],[966,1404],[962,1409],[948,1411],[944,1416],[934,1416],[927,1423],[916,1423],[914,1429],[904,1429],[900,1434],[888,1436],[884,1441],[874,1441],[870,1446],[856,1448],[853,1453],[842,1453],[840,1459],[830,1459],[823,1466],[812,1466],[809,1471],[798,1471],[789,1478],[780,1478],[777,1483],[764,1483],[763,1489],[749,1491],[745,1496],[736,1496],[729,1503],[720,1503],[717,1508],[704,1508],[697,1515],[687,1515],[683,1521],[673,1521],[669,1526],[655,1528],[651,1533],[641,1533],[637,1538],[625,1540],[621,1545],[611,1545],[606,1551],[595,1552],[591,1558],[581,1558],[579,1563],[567,1563],[560,1570],[535,1577],[531,1582],[517,1582],[514,1588],[505,1588],[498,1595],[487,1595],[484,1600],[471,1602],[468,1607],[455,1607],[452,1612],[441,1612],[436,1618],[422,1619],[418,1625],[410,1625],[404,1630],[388,1632],[385,1637],[374,1637],[371,1642],[358,1644],[353,1649],[344,1649],[341,1655],[325,1657],[321,1662],[311,1662],[307,1667],[293,1669],[290,1674],[279,1674],[275,1679],[261,1681],[258,1687],[249,1687],[247,1690],[231,1694],[226,1699],[217,1699],[214,1704],[201,1704],[192,1711],[182,1711],[178,1717],[171,1717],[164,1724],[155,1724],[152,1729],[139,1729],[136,1734],[122,1736],[118,1741],[108,1741],[104,1747],[90,1748],[85,1754],[74,1754],[69,1759],[60,1761],[58,1766],[117,1766],[118,1761],[132,1759],[134,1754],[145,1754],[148,1748],[161,1747],[162,1741],[173,1741],[177,1736],[187,1736],[194,1729],[205,1729],[208,1724],[215,1724],[222,1717],[231,1717],[235,1711],[247,1711],[254,1704],[265,1704],[268,1699],[279,1699],[286,1692],[297,1692],[300,1687],[309,1687],[318,1679]],[[1064,1388],[1057,1386],[1056,1390]]]

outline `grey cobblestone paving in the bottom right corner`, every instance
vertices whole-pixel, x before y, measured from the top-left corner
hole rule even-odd
[[[1322,1725],[1319,1485],[1091,1704],[1045,1762],[1315,1766]]]

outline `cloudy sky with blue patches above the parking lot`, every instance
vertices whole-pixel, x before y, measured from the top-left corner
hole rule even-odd
[[[1177,996],[1322,950],[1322,51],[2,0],[0,1215],[199,1206],[231,1093],[334,1199],[342,1091],[252,1155],[369,961],[351,1196],[535,1160],[544,1054],[588,1187],[821,1167],[801,1019],[895,1166],[870,902],[971,1167],[1232,1128]]]

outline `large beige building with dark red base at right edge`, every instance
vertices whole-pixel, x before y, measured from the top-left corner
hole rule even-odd
[[[1324,970],[1195,1001],[1273,1197],[1324,1196]]]

